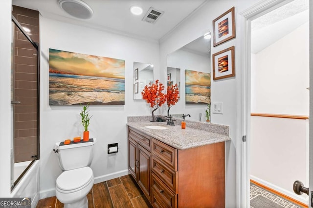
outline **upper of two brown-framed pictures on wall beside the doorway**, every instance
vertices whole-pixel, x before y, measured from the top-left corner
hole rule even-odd
[[[213,20],[213,46],[236,37],[235,7]]]

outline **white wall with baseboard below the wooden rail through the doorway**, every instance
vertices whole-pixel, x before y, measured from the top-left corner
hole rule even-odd
[[[293,182],[308,184],[309,120],[251,116],[250,178],[303,203]]]

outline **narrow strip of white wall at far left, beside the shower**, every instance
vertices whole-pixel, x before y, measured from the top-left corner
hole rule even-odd
[[[11,4],[0,1],[0,197],[11,195]]]

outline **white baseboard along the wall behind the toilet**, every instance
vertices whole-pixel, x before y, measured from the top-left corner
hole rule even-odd
[[[97,176],[94,178],[93,183],[98,184],[98,183],[108,181],[113,178],[118,178],[118,177],[128,175],[128,174],[129,174],[128,170],[121,170],[121,171],[113,172],[110,174]],[[45,198],[52,197],[52,196],[55,196],[55,188],[40,191],[40,199],[45,199]]]

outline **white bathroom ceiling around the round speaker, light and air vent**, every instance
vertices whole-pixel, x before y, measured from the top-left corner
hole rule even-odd
[[[74,19],[58,5],[58,0],[12,0],[13,5],[38,10],[49,19],[78,24],[125,36],[159,40],[184,19],[192,15],[207,0],[84,0],[93,9],[93,17]],[[138,5],[143,13],[134,16],[130,7]],[[155,24],[141,19],[150,7],[164,11]]]

